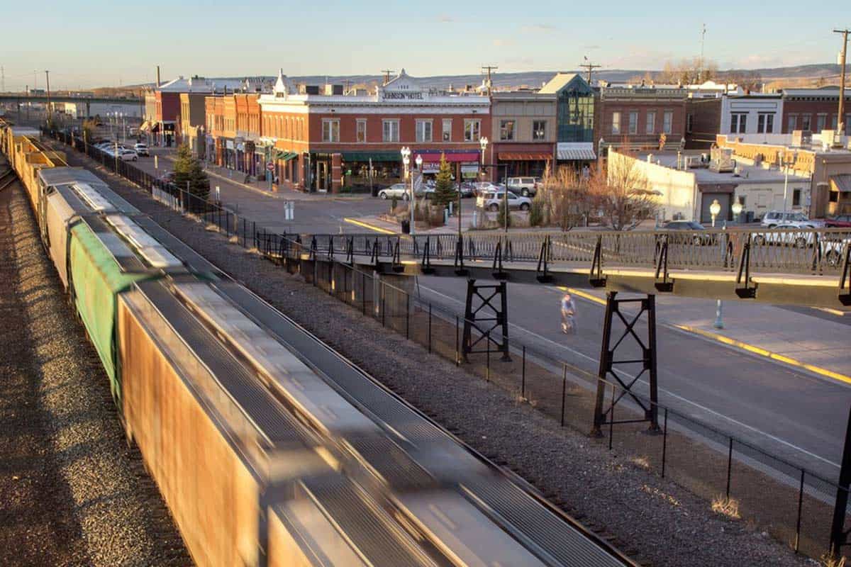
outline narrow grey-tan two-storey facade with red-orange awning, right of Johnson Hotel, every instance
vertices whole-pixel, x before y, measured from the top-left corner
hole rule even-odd
[[[488,134],[498,175],[541,177],[555,159],[556,95],[534,91],[491,95]]]

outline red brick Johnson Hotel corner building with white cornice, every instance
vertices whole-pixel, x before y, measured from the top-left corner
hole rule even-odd
[[[443,154],[474,179],[479,140],[491,130],[487,96],[422,88],[404,70],[372,93],[297,88],[282,72],[259,102],[266,159],[280,183],[305,190],[394,183],[403,146],[423,157],[423,173],[437,173]]]

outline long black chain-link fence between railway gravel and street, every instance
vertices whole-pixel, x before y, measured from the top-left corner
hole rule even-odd
[[[219,204],[203,201],[185,189],[156,179],[132,163],[83,145],[82,139],[60,132],[49,134],[88,153],[107,170],[149,191],[157,201],[202,218],[239,246],[255,249],[289,273],[299,273],[312,285],[419,343],[430,353],[513,392],[519,403],[534,405],[563,427],[585,432],[591,429],[594,390],[597,383],[603,383],[610,413],[600,442],[624,456],[630,466],[675,480],[711,502],[718,513],[752,519],[796,552],[819,557],[827,551],[837,496],[844,491],[836,481],[665,405],[656,405],[660,419],[657,432],[648,432],[639,423],[615,426],[612,423],[615,411],[619,414],[618,421],[632,414],[637,416],[636,405],[616,403],[625,394],[619,384],[602,380],[576,360],[554,356],[551,351],[517,338],[510,340],[511,360],[501,360],[497,351],[491,350],[490,337],[477,334],[475,326],[472,339],[482,337],[485,339],[482,343],[487,346],[483,353],[464,354],[463,315],[421,298],[408,287],[410,278],[400,275],[391,282],[393,275],[370,274],[347,263],[347,252],[374,252],[374,235],[356,236],[352,240],[348,240],[351,235],[328,235],[324,240],[305,242],[300,235],[275,233]],[[449,247],[454,254],[455,239],[454,235],[432,237],[430,247],[440,253]],[[471,253],[490,253],[479,251],[483,247],[487,249],[491,241],[471,239],[469,246],[475,248]],[[397,246],[403,245],[410,247],[411,253],[416,250],[421,254],[419,247],[425,246],[421,237],[408,240],[378,237],[378,242],[382,256],[392,255]],[[641,392],[633,389],[631,395],[651,405],[648,396]],[[662,496],[669,497],[671,505],[676,505],[672,496]]]

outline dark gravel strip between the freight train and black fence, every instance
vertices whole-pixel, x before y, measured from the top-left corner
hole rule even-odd
[[[93,166],[75,152],[75,165]],[[94,170],[136,207],[242,281],[471,446],[537,486],[585,524],[658,566],[813,564],[749,526],[712,513],[682,487],[519,404],[426,349],[364,318],[296,276],[244,251],[141,190]]]

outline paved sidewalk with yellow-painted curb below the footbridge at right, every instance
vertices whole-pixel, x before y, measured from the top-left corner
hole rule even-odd
[[[570,291],[605,304],[604,292]],[[845,340],[851,329],[838,315],[836,321],[826,320],[774,305],[728,301],[722,303],[724,328],[716,329],[714,300],[659,295],[656,309],[660,324],[851,384],[851,349]]]

